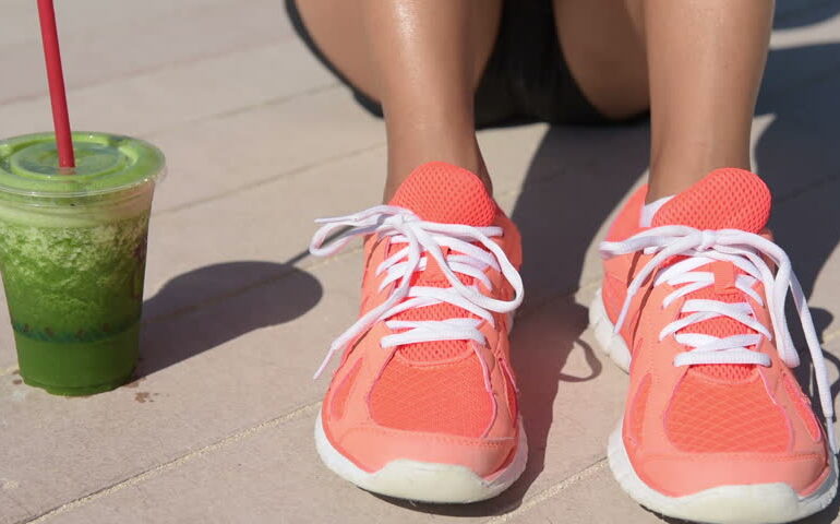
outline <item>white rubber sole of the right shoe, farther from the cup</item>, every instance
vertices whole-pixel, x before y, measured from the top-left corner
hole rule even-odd
[[[589,321],[598,343],[615,364],[627,371],[631,353],[613,324],[598,290],[589,308]],[[784,483],[718,486],[683,497],[669,497],[645,484],[633,468],[622,439],[621,424],[610,436],[610,469],[622,489],[645,508],[667,516],[711,524],[780,524],[813,515],[831,503],[837,493],[837,458],[823,485],[800,497]]]

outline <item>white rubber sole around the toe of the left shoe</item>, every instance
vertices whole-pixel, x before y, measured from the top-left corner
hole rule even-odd
[[[324,433],[321,414],[315,421],[315,446],[324,464],[336,475],[374,493],[435,503],[469,503],[491,499],[507,489],[525,471],[528,440],[519,420],[516,454],[504,469],[482,478],[470,468],[454,464],[398,458],[368,473],[338,452]]]

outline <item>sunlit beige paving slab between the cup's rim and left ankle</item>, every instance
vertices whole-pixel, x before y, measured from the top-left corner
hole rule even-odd
[[[157,195],[156,212],[219,199],[296,169],[382,145],[381,122],[361,114],[349,99],[336,87],[155,133],[149,139],[167,153],[170,172]],[[357,174],[337,171],[335,176]],[[310,194],[329,191],[324,182]],[[279,213],[281,209],[278,218]]]

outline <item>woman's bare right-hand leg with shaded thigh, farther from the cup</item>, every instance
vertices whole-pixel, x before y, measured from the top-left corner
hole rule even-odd
[[[648,202],[718,167],[749,169],[772,10],[771,0],[555,0],[566,61],[596,107],[631,115],[649,92]]]

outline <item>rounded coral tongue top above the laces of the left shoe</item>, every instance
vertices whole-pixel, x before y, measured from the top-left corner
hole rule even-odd
[[[391,205],[413,211],[423,221],[468,226],[490,226],[496,204],[484,183],[472,172],[444,162],[417,167],[404,181]]]

